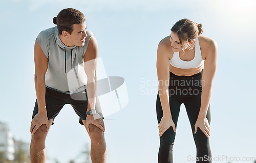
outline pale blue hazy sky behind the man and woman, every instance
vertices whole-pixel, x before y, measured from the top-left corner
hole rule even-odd
[[[1,112],[16,139],[30,142],[30,122],[36,99],[33,46],[42,30],[54,26],[61,9],[75,8],[87,18],[99,44],[109,76],[125,79],[129,104],[105,117],[108,162],[157,162],[159,147],[155,101],[156,50],[172,25],[189,18],[204,26],[203,35],[218,43],[218,68],[211,97],[212,156],[244,157],[255,153],[256,12],[254,1],[30,1],[1,2]],[[142,86],[141,81],[148,81]],[[142,90],[149,90],[144,95]],[[70,105],[55,119],[47,141],[48,162],[76,159],[86,130]],[[181,107],[174,160],[187,161],[196,147],[184,105]],[[227,162],[226,159],[216,162]],[[236,162],[236,161],[232,161]],[[253,161],[244,161],[253,162]]]

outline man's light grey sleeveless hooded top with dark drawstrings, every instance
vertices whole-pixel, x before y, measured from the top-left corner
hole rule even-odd
[[[86,30],[86,33],[88,37],[82,47],[63,44],[57,26],[39,33],[36,40],[48,58],[46,87],[68,94],[86,87],[87,75],[84,72],[83,56],[90,37],[93,36],[91,31]]]

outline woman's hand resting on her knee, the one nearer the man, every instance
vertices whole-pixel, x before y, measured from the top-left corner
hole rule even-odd
[[[174,132],[176,132],[175,124],[172,118],[163,116],[159,125],[159,137],[162,137],[163,133],[169,128],[173,127]]]

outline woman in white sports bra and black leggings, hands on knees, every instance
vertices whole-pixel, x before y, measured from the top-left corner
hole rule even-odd
[[[158,162],[173,162],[180,105],[184,103],[197,147],[197,162],[211,162],[210,96],[217,67],[217,44],[202,36],[202,24],[181,19],[157,50]]]

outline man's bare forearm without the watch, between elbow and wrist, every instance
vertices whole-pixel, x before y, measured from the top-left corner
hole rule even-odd
[[[46,111],[46,84],[45,78],[37,77],[35,75],[35,92],[38,104],[38,113],[47,114]]]

